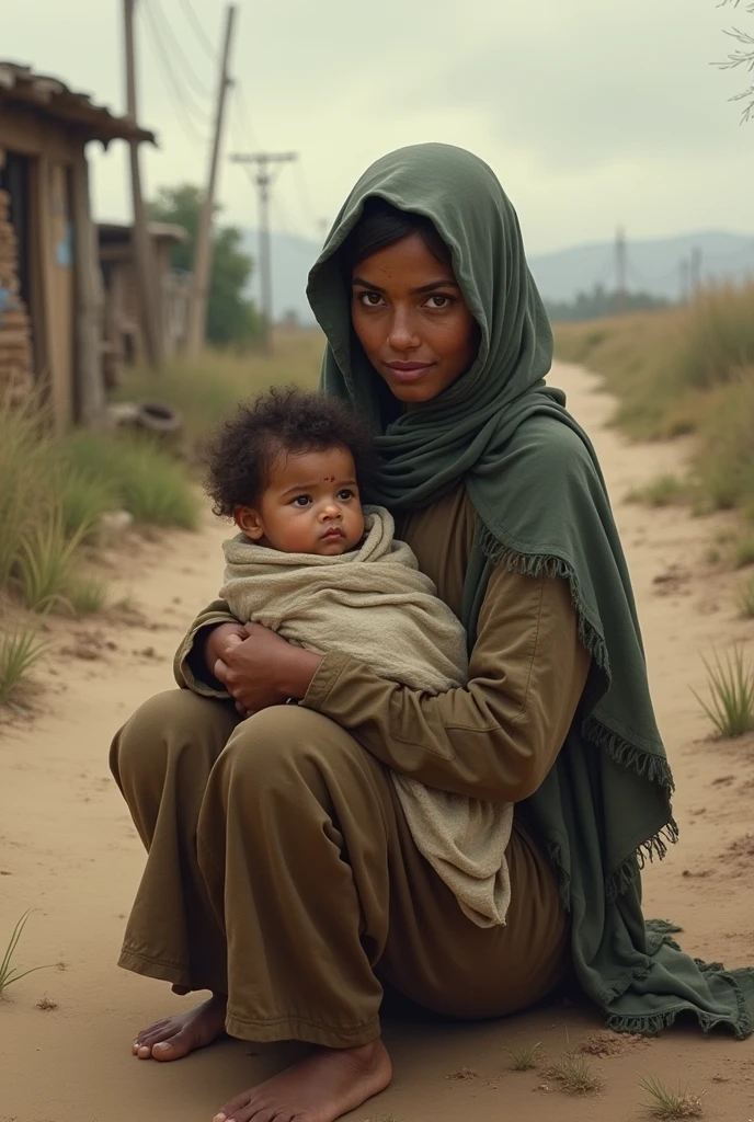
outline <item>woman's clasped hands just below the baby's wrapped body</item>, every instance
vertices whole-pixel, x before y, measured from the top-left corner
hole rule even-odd
[[[206,641],[208,666],[243,716],[303,698],[322,657],[260,624],[221,624]]]

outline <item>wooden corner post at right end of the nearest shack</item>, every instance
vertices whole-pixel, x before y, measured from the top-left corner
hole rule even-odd
[[[76,420],[94,424],[104,410],[101,355],[99,245],[89,195],[89,165],[84,149],[73,167],[74,260],[76,269]]]

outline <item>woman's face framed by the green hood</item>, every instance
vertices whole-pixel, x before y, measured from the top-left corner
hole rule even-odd
[[[421,234],[359,261],[351,284],[353,330],[398,401],[431,402],[473,362],[476,320],[450,264],[439,261]]]

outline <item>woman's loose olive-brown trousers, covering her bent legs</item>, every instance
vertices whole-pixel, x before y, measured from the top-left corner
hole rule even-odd
[[[563,978],[554,873],[516,816],[505,927],[479,928],[416,849],[387,769],[328,717],[147,701],[111,769],[147,849],[120,965],[228,995],[227,1030],[332,1048],[379,1036],[383,983],[502,1017]]]

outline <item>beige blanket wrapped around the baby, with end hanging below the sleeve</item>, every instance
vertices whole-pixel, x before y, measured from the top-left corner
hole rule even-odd
[[[243,534],[224,543],[220,596],[241,622],[264,624],[311,651],[353,655],[381,678],[441,693],[468,681],[466,635],[419,571],[392,515],[366,508],[358,550],[340,557],[282,553]],[[416,847],[479,927],[505,923],[505,850],[513,806],[424,787],[393,772]]]

